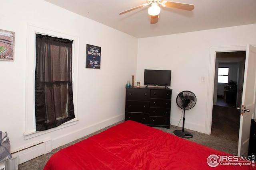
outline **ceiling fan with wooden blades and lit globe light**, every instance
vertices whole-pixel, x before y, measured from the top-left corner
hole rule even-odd
[[[154,23],[157,23],[158,18],[159,18],[159,13],[160,13],[159,4],[162,5],[163,7],[168,7],[168,8],[178,8],[178,9],[181,9],[181,10],[188,10],[188,11],[194,10],[194,5],[192,5],[192,4],[184,4],[184,3],[171,2],[171,1],[160,2],[160,0],[146,0],[146,2],[147,3],[142,4],[140,6],[136,6],[134,8],[131,8],[130,10],[120,12],[119,15],[125,14],[125,13],[133,11],[133,10],[136,10],[138,8],[142,8],[142,7],[147,6],[147,5],[151,5],[148,8],[148,14],[150,15],[150,23],[154,24]]]

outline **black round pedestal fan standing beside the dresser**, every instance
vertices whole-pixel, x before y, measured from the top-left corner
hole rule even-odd
[[[180,92],[176,98],[177,105],[183,109],[183,125],[182,130],[175,130],[174,134],[182,138],[192,138],[193,135],[188,131],[184,131],[185,110],[191,109],[196,105],[196,96],[190,91]]]

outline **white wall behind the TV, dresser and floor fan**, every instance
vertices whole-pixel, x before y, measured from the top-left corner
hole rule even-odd
[[[210,72],[210,48],[256,44],[256,24],[226,27],[175,35],[142,38],[138,41],[137,81],[143,82],[144,69],[172,70],[171,124],[178,125],[182,110],[176,97],[183,90],[194,92],[196,106],[185,113],[185,128],[206,133]],[[205,77],[202,82],[201,78]],[[143,84],[142,84],[143,86]],[[210,97],[211,98],[211,97]],[[182,121],[179,124],[182,127]]]

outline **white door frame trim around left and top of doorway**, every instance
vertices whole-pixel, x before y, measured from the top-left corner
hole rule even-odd
[[[214,80],[215,80],[215,65],[216,53],[233,52],[233,51],[246,51],[246,45],[241,46],[227,46],[227,47],[210,47],[210,61],[208,72],[208,95],[206,106],[206,126],[205,133],[210,135],[212,130],[212,107],[214,99]],[[217,88],[217,87],[216,87]]]

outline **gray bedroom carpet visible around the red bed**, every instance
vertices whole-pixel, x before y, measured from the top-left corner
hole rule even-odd
[[[122,123],[123,121],[120,121],[118,123]],[[116,124],[118,124],[116,123]],[[114,125],[116,125],[114,124]],[[109,127],[112,127],[113,125],[109,126]],[[73,141],[72,143],[69,143],[67,145],[64,145],[62,147],[59,147],[57,149],[54,149],[52,150],[52,152],[49,152],[45,155],[42,155],[42,156],[38,156],[37,158],[34,158],[28,162],[24,162],[23,164],[20,164],[19,165],[19,170],[42,170],[44,168],[44,165],[46,164],[47,160],[50,158],[50,156],[52,154],[54,154],[55,152],[57,152],[58,150],[62,149],[62,148],[65,148],[65,147],[68,147],[69,145],[72,145],[74,143],[77,143],[78,141],[81,141],[83,139],[86,139],[92,135],[95,135],[97,133],[100,133],[106,129],[108,129],[109,127],[106,127],[100,131],[97,131],[93,134],[90,134],[90,135],[87,135],[81,139],[78,139],[76,141]],[[186,123],[185,123],[185,127],[186,127]],[[164,132],[167,132],[167,133],[171,133],[171,134],[174,134],[173,131],[174,130],[177,130],[177,129],[182,129],[180,127],[170,127],[170,129],[166,129],[166,128],[162,128],[162,127],[155,127],[156,129],[160,129]],[[216,150],[221,150],[223,152],[227,152],[229,154],[233,154],[233,155],[237,155],[237,149],[238,149],[238,141],[233,141],[231,139],[226,139],[226,138],[223,138],[221,136],[214,136],[214,135],[206,135],[206,134],[203,134],[203,133],[199,133],[199,132],[196,132],[196,131],[191,131],[191,130],[188,130],[188,129],[185,129],[186,131],[190,132],[193,134],[193,138],[190,138],[190,139],[187,139],[189,141],[193,141],[193,142],[196,142],[196,143],[199,143],[201,145],[204,145],[204,146],[207,146],[207,147],[210,147],[210,148],[213,148],[213,149],[216,149]]]

